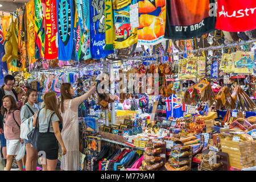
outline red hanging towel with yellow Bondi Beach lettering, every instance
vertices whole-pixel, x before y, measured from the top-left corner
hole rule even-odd
[[[58,57],[58,48],[56,47],[57,15],[55,0],[46,1],[46,13],[44,14],[46,15],[44,59],[55,59]]]

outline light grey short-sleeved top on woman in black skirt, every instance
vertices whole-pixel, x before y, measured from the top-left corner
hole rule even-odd
[[[48,130],[48,126],[49,126],[49,132],[54,133],[52,123],[60,121],[60,119],[57,117],[57,114],[53,114],[52,119],[50,121],[50,118],[53,112],[54,112],[53,110],[49,110],[49,109],[47,109],[47,112],[46,112],[46,108],[44,107],[43,109],[40,110],[39,115],[38,113],[36,114],[36,117],[38,117],[40,133],[46,133]],[[51,122],[50,125],[49,125],[49,122]]]

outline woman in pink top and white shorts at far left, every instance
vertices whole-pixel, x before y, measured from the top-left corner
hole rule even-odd
[[[6,171],[11,170],[13,157],[18,154],[20,144],[23,139],[20,139],[20,110],[16,105],[13,96],[4,96],[3,105],[1,107],[3,115],[3,131],[6,138],[7,164]],[[17,161],[19,171],[23,171],[22,160]]]

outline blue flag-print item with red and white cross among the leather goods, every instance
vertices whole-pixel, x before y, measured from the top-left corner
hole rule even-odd
[[[170,97],[166,98],[166,117],[180,118],[183,117],[185,111],[185,105],[176,104],[176,95],[172,94]]]

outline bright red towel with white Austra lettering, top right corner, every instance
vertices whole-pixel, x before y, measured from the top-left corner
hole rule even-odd
[[[218,0],[216,29],[242,32],[256,28],[255,0]]]

